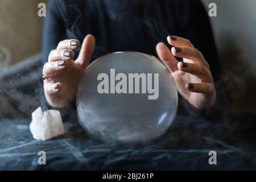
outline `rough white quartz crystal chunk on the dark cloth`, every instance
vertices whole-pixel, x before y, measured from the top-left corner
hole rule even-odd
[[[30,131],[36,140],[49,140],[65,133],[60,111],[48,110],[42,111],[38,107],[32,113],[32,122]]]

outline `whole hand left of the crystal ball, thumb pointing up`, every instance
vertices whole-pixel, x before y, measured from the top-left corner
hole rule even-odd
[[[95,39],[87,35],[82,43],[79,57],[74,61],[73,50],[79,48],[78,40],[63,40],[52,50],[44,64],[44,94],[53,107],[67,106],[74,100],[82,74],[88,67],[94,51]]]

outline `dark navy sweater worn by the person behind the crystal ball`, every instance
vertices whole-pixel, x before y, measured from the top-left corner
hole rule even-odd
[[[82,42],[87,34],[96,37],[92,61],[117,51],[138,51],[156,56],[156,44],[167,44],[167,36],[176,35],[191,40],[208,61],[214,80],[220,77],[212,29],[200,1],[52,0],[47,10],[43,33],[44,61],[61,40],[79,39]],[[76,55],[78,53],[76,51]],[[49,108],[45,98],[42,106],[44,110]]]

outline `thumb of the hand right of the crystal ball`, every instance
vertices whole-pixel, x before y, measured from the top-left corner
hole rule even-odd
[[[156,45],[156,52],[160,60],[163,61],[164,65],[170,70],[170,72],[177,71],[177,63],[178,61],[172,55],[170,49],[164,43],[158,43]]]

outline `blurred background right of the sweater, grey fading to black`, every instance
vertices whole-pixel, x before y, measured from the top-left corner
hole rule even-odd
[[[234,112],[256,111],[256,1],[203,0],[217,5],[210,18]]]

